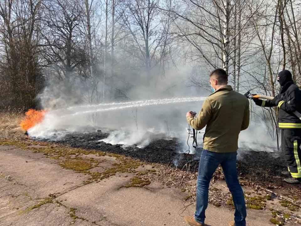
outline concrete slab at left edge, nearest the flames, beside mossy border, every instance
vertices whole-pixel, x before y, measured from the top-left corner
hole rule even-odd
[[[47,197],[50,193],[64,193],[83,184],[89,175],[64,170],[51,158],[30,150],[3,150],[0,147],[0,174],[10,175],[13,181],[31,188],[32,196]]]

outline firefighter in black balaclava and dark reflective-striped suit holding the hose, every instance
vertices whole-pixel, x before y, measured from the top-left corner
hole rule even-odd
[[[281,149],[288,165],[288,171],[281,173],[290,175],[289,178],[284,179],[285,182],[299,184],[301,182],[301,120],[293,112],[301,112],[301,89],[293,82],[292,74],[288,70],[281,71],[277,81],[281,89],[273,100],[253,100],[261,107],[278,107]]]

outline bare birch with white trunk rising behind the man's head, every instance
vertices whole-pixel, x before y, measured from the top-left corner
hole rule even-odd
[[[246,34],[245,44],[248,46],[252,39],[249,35],[251,19],[262,3],[254,5],[253,1],[230,0],[206,3],[203,0],[182,0],[180,3],[182,8],[186,6],[184,13],[182,8],[181,11],[177,9],[177,5],[170,10],[178,17],[174,21],[174,33],[193,46],[198,51],[198,56],[193,53],[194,59],[202,60],[209,68],[221,66],[228,74],[232,74],[229,62],[235,58],[234,83],[239,89],[242,34]]]

